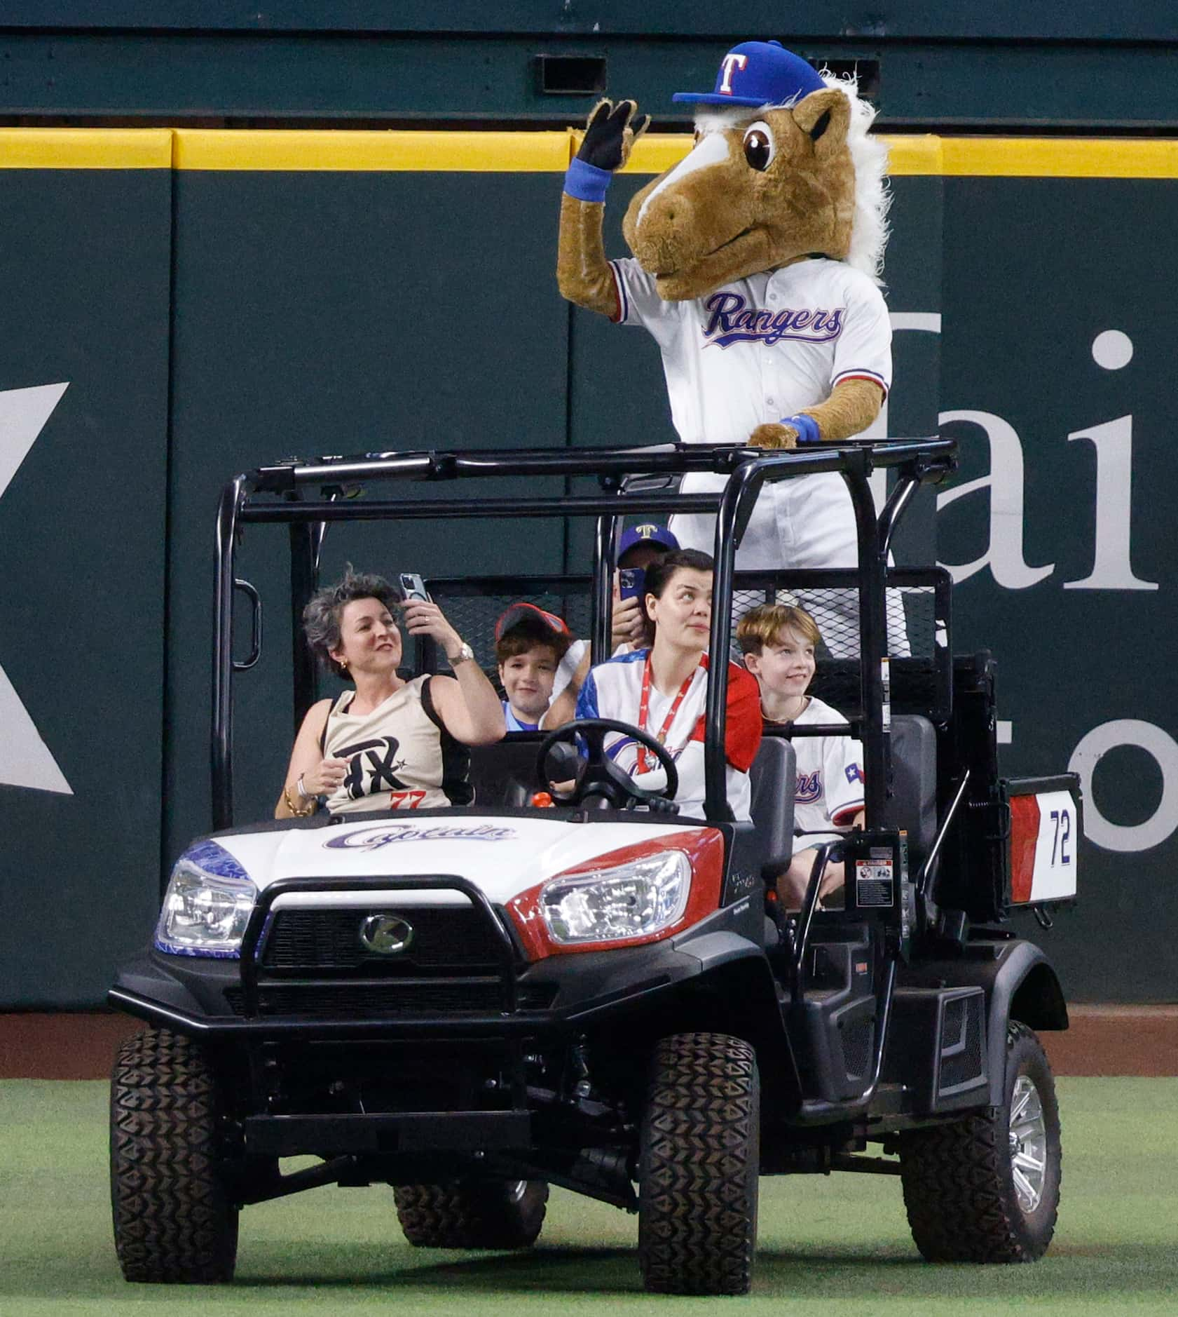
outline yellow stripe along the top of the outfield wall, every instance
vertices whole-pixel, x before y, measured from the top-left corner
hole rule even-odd
[[[188,128],[5,128],[0,169],[366,173],[565,171],[580,134]],[[977,178],[1178,178],[1178,142],[1133,138],[887,136],[891,174]],[[687,133],[648,133],[627,173],[661,174]]]

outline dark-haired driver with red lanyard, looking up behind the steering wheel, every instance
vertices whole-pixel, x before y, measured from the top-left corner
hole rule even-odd
[[[646,614],[654,624],[650,648],[591,668],[576,699],[576,716],[632,723],[666,747],[679,773],[675,801],[680,814],[703,818],[712,560],[698,549],[665,553],[646,569],[645,585]],[[729,664],[724,756],[728,803],[737,819],[749,818],[749,769],[759,744],[757,684]],[[637,786],[649,792],[666,786],[666,770],[632,736],[611,732],[605,751]]]

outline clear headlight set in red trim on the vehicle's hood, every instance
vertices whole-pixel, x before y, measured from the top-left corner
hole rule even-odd
[[[611,869],[553,878],[540,909],[553,942],[612,942],[661,932],[682,918],[691,861],[682,851],[630,860]]]

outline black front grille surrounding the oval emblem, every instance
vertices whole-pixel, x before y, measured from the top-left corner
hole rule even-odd
[[[395,956],[369,951],[359,934],[371,914],[394,914],[412,925],[409,946]],[[475,906],[278,910],[266,934],[262,968],[278,975],[337,971],[382,979],[498,973],[501,946]]]

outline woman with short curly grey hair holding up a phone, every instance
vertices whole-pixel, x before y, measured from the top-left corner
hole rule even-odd
[[[453,677],[401,681],[400,611],[411,636],[444,647]],[[469,745],[504,735],[495,687],[470,645],[428,599],[399,602],[383,577],[354,574],[307,605],[303,624],[320,661],[354,682],[312,705],[291,751],[275,818],[469,805]]]

